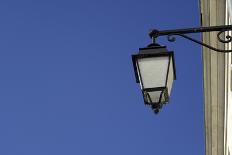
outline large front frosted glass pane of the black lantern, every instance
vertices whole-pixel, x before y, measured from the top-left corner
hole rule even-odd
[[[143,88],[164,87],[166,84],[169,56],[138,59],[140,82]]]

